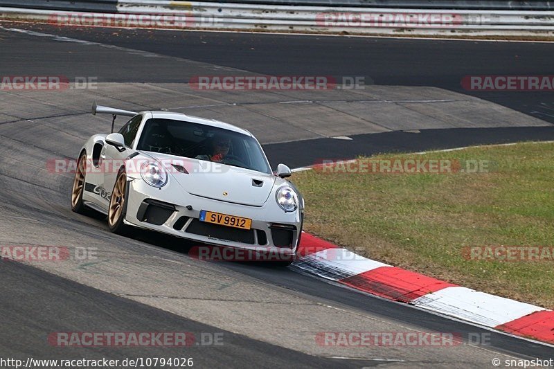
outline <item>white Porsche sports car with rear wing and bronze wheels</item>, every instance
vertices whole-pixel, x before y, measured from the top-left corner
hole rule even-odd
[[[271,171],[246,129],[168,111],[93,105],[132,117],[95,134],[78,156],[71,208],[107,215],[109,229],[135,226],[206,244],[294,257],[304,201],[286,165]]]

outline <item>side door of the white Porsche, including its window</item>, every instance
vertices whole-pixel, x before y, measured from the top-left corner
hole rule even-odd
[[[125,163],[125,159],[132,153],[132,147],[136,139],[136,134],[139,132],[143,116],[138,115],[131,118],[118,133],[123,135],[123,141],[125,141],[125,150],[120,151],[117,147],[104,144],[102,150],[102,159],[106,163],[107,170],[104,171],[104,179],[102,183],[103,193],[102,204],[107,209],[109,207],[109,200],[111,197],[111,191],[114,189],[116,178],[119,169]]]

